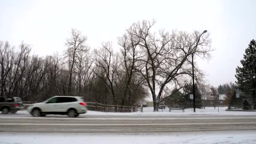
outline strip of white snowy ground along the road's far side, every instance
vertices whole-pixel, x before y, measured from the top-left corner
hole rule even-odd
[[[185,112],[182,110],[172,110],[169,112],[169,109],[159,109],[159,112],[153,112],[153,107],[144,107],[143,112],[97,112],[97,111],[88,111],[86,114],[82,115],[256,115],[256,112],[234,112],[234,111],[225,111],[227,107],[205,107],[205,109],[196,109],[196,112],[193,112],[192,109],[185,109]],[[27,111],[19,111],[17,115],[29,115]]]

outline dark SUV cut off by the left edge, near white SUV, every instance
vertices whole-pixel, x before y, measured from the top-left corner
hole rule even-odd
[[[0,111],[2,114],[8,114],[9,112],[15,114],[18,110],[23,110],[21,98],[0,97]]]

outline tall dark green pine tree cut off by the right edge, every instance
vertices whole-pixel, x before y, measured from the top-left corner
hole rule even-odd
[[[236,75],[238,88],[251,96],[253,109],[256,109],[256,41],[251,40],[245,49],[242,67],[237,67]]]

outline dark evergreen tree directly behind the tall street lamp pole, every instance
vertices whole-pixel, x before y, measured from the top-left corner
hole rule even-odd
[[[185,108],[191,107],[191,100],[189,99],[189,95],[193,94],[193,85],[192,83],[188,84],[185,88],[183,88],[184,91],[184,99],[185,99]],[[192,104],[193,107],[193,104]],[[195,107],[201,109],[203,107],[202,104],[202,93],[200,92],[197,84],[195,84]]]

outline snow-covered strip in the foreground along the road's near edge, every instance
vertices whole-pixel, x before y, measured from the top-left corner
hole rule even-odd
[[[171,135],[1,134],[0,144],[256,144],[256,131]]]

